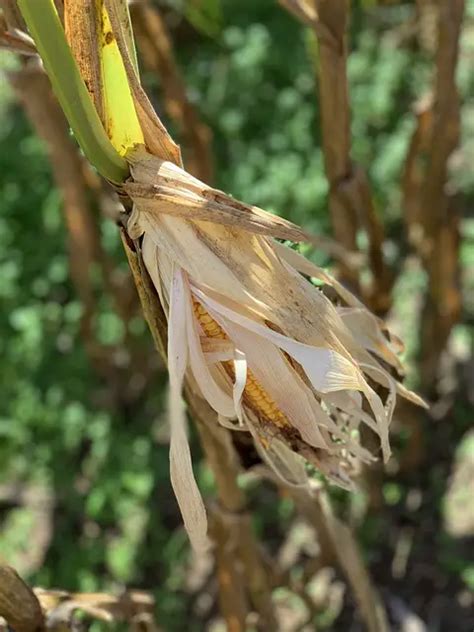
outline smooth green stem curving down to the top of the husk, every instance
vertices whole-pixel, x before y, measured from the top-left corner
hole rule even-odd
[[[107,180],[121,183],[127,163],[114,149],[67,44],[52,0],[18,0],[53,90],[87,159]]]

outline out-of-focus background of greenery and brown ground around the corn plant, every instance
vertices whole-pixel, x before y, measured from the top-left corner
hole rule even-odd
[[[311,30],[273,0],[159,4],[189,99],[212,131],[213,183],[330,234]],[[417,629],[467,632],[474,625],[474,2],[466,4],[460,39],[461,144],[446,185],[460,217],[462,310],[428,384],[419,369],[427,273],[407,238],[401,183],[417,125],[414,105],[433,84],[436,18],[420,9],[429,0],[352,5],[352,156],[369,175],[386,231],[384,254],[397,273],[389,319],[407,343],[408,381],[433,406],[399,418],[385,471],[368,475],[353,496],[330,494],[358,535],[394,626],[408,630],[402,626],[411,613],[425,626]],[[152,590],[164,630],[217,630],[210,561],[190,561],[170,487],[166,373],[106,217],[113,203],[102,203],[108,194],[90,180],[100,255],[85,327],[61,193],[46,147],[7,80],[19,62],[0,55],[0,558],[42,586]],[[163,75],[144,64],[144,80],[186,158],[185,130],[164,108]],[[321,252],[311,256],[330,263]],[[117,296],[127,297],[122,311]],[[199,449],[196,438],[196,463]],[[212,497],[204,461],[197,470]],[[260,540],[280,561],[293,556],[288,566],[298,578],[314,554],[313,533],[294,502],[269,483],[244,476],[241,485]],[[319,605],[307,628],[298,627],[308,612],[301,595],[276,588],[285,629],[361,629],[338,573],[312,579],[305,590]]]

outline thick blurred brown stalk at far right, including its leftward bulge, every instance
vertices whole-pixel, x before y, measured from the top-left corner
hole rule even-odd
[[[410,237],[428,273],[420,373],[429,390],[433,390],[441,355],[461,311],[459,217],[447,190],[447,179],[448,161],[459,141],[456,66],[464,4],[464,0],[437,1],[434,94],[432,103],[418,114],[405,170],[405,214]]]

